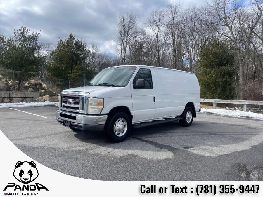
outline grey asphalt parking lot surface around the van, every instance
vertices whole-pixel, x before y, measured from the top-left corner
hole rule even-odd
[[[263,166],[262,120],[199,113],[191,127],[175,121],[134,129],[127,140],[114,144],[103,131],[76,133],[63,127],[56,121],[56,109],[2,108],[0,130],[37,162],[68,175],[96,180],[245,180],[240,169]]]

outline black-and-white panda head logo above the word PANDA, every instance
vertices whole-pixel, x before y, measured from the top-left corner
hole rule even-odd
[[[34,161],[18,161],[15,164],[14,177],[21,183],[28,184],[38,177],[38,171]]]

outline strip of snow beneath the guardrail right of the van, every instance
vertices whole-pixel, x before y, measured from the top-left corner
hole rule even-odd
[[[245,111],[239,111],[239,110],[202,108],[200,113],[218,114],[218,115],[222,115],[222,116],[235,116],[235,117],[263,119],[263,114],[258,114],[258,113],[254,113],[254,112],[250,112],[250,111],[245,112]]]

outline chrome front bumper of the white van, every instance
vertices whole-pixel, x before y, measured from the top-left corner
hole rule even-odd
[[[63,124],[63,120],[70,121],[70,128],[80,130],[101,130],[107,120],[107,115],[85,115],[58,109],[56,119]]]

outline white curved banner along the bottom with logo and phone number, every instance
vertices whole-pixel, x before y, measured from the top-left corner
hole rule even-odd
[[[255,181],[98,181],[65,175],[34,161],[0,130],[1,195],[6,196],[263,196]]]

